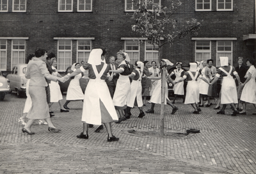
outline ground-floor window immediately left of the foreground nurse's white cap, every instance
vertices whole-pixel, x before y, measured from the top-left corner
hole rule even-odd
[[[91,40],[77,40],[77,62],[87,62],[92,51]]]

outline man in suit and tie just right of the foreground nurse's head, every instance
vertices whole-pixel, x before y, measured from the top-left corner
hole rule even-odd
[[[108,67],[111,68],[111,70],[117,70],[117,65],[115,64],[115,57],[111,56],[109,58],[109,64]],[[112,72],[109,72],[109,75],[111,75]],[[108,85],[108,89],[109,89],[109,93],[111,95],[111,98],[113,99],[114,93],[115,93],[115,89],[116,89],[116,82],[118,79],[119,75],[118,74],[114,74],[113,80],[109,81],[108,79],[106,79],[106,83]]]

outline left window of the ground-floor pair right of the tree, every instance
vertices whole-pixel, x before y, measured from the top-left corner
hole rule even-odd
[[[211,41],[197,40],[195,54],[195,61],[211,59]]]

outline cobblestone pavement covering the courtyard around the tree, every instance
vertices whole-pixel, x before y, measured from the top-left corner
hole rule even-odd
[[[214,106],[193,115],[191,106],[177,100],[175,115],[166,106],[164,131],[178,136],[164,138],[130,134],[159,131],[160,105],[143,118],[137,118],[134,108],[131,119],[112,123],[120,141],[109,143],[106,129],[94,132],[97,126],[89,129],[89,139],[76,138],[83,130],[81,101],[70,102],[69,113],[52,105],[52,122],[60,133],[38,122],[32,126],[34,135],[22,133],[17,119],[25,100],[8,94],[0,102],[0,173],[256,173],[256,116],[250,105],[247,115],[231,116],[230,107],[226,115],[216,115]],[[147,104],[144,110],[149,108]],[[191,128],[200,133],[182,134]]]

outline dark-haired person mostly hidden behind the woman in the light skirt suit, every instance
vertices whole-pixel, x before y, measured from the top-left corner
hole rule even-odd
[[[45,59],[46,67],[47,67],[50,74],[52,74],[52,72],[53,72],[53,70],[52,70],[52,61],[54,59],[56,59],[55,57],[56,57],[55,54],[53,54],[51,52],[50,54],[47,55],[47,58]],[[49,83],[51,83],[51,81],[48,80],[48,79],[45,79],[45,80],[48,83],[48,86],[45,87],[45,90],[46,90],[46,96],[47,96],[47,103],[49,104],[51,102],[51,94],[50,94],[50,87],[49,87]],[[53,112],[50,112],[50,116],[54,116],[52,113]]]

